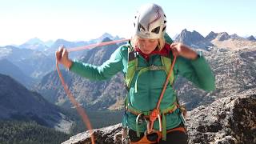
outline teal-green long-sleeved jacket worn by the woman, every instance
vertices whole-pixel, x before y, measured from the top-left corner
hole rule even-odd
[[[169,39],[171,41],[171,39]],[[168,41],[167,41],[168,42]],[[91,80],[104,80],[111,78],[114,74],[122,71],[127,73],[127,58],[128,48],[127,46],[120,46],[110,56],[110,59],[102,64],[102,66],[93,66],[88,63],[74,61],[70,70],[76,74],[80,74],[82,77],[89,78]],[[150,55],[149,61],[146,61],[142,55],[138,54],[138,66],[162,66],[161,58],[158,54]],[[134,74],[134,79],[130,84],[130,90],[128,92],[128,102],[134,108],[142,111],[153,110],[158,102],[158,98],[162,91],[163,83],[166,80],[166,72],[164,70],[146,71],[137,78],[138,72]],[[214,90],[214,75],[210,70],[210,66],[207,64],[206,59],[202,56],[202,53],[198,54],[198,58],[195,60],[189,60],[186,58],[178,57],[174,65],[174,79],[178,75],[193,82],[195,86],[198,86],[202,90],[210,91]],[[137,78],[137,92],[134,90],[135,79]],[[160,110],[166,109],[174,102],[174,90],[172,86],[167,86],[164,97],[160,105]],[[136,115],[126,114],[125,122],[126,126],[130,129],[136,130]],[[166,129],[171,129],[178,126],[182,122],[179,110],[175,110],[174,113],[166,114]],[[154,129],[158,130],[158,121],[154,122]],[[146,130],[146,122],[139,125],[139,131],[144,132]]]

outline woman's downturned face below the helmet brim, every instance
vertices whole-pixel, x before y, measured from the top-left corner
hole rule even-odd
[[[138,38],[138,48],[144,54],[150,54],[158,46],[158,39]]]

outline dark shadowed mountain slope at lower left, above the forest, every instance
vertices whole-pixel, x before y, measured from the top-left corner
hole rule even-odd
[[[0,109],[1,120],[35,121],[66,133],[72,125],[72,120],[58,106],[3,74],[0,74]]]

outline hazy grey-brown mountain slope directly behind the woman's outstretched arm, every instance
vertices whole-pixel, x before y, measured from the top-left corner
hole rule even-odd
[[[110,41],[110,38],[103,39],[102,42]],[[90,62],[96,66],[100,66],[105,62],[110,55],[118,48],[118,45],[96,47],[92,50],[85,51],[81,58],[83,62]],[[108,109],[115,107],[121,108],[123,95],[126,92],[122,84],[122,74],[117,74],[113,78],[102,82],[91,82],[86,78],[81,78],[76,74],[71,74],[69,71],[62,71],[63,77],[66,78],[66,83],[70,86],[71,92],[76,95],[78,102],[82,106],[91,109]],[[42,78],[42,82],[35,88],[40,94],[44,95],[47,100],[59,106],[70,107],[70,101],[66,98],[66,94],[62,89],[62,85],[58,79],[56,72],[46,74]],[[56,96],[57,95],[57,96]],[[120,98],[120,99],[118,99]],[[116,102],[118,99],[118,102]]]

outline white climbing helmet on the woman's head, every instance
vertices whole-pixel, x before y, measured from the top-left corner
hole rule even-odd
[[[156,4],[142,6],[135,15],[135,35],[140,38],[162,38],[166,31],[166,14]]]

